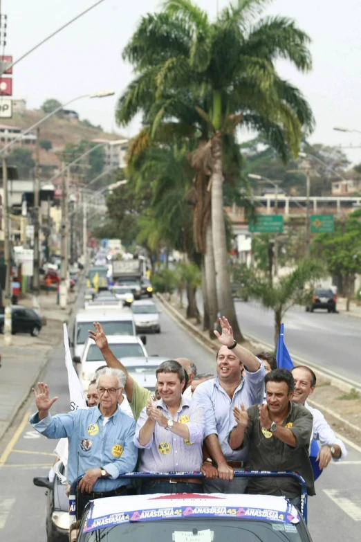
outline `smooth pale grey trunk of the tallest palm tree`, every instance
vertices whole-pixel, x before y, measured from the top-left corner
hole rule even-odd
[[[214,267],[216,269],[216,298],[222,316],[228,318],[233,329],[234,338],[244,341],[239,329],[230,276],[228,275],[228,253],[225,240],[225,224],[223,211],[223,170],[222,170],[222,136],[215,132],[212,138],[212,237],[214,250]]]

